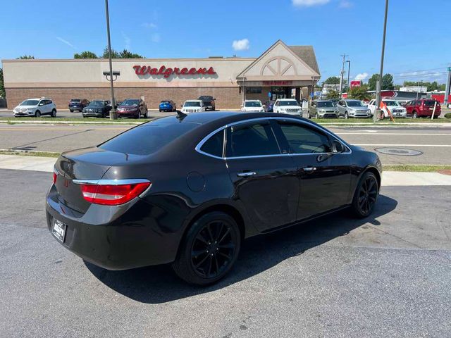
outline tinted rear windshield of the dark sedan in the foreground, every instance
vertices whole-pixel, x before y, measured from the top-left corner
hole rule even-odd
[[[197,123],[174,120],[175,117],[171,117],[145,123],[100,144],[99,148],[123,154],[153,154],[197,126]]]

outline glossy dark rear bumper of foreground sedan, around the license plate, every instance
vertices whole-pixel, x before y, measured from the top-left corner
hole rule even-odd
[[[144,210],[152,206],[137,198],[122,206],[93,204],[80,214],[61,204],[52,187],[46,201],[47,227],[52,233],[54,218],[64,223],[63,242],[55,237],[56,241],[101,268],[126,270],[171,263],[181,231],[165,233],[156,226],[158,220],[143,215]]]

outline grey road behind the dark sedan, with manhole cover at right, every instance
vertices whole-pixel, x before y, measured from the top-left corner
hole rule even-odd
[[[129,125],[0,125],[0,149],[66,151],[99,144]],[[385,165],[451,164],[451,125],[437,127],[330,127],[365,149],[390,147],[420,151],[417,156],[378,153]]]

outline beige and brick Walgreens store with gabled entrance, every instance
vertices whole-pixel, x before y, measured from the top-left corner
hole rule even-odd
[[[45,96],[57,108],[70,99],[110,99],[105,59],[3,60],[8,108]],[[209,57],[113,59],[116,101],[143,97],[150,109],[161,100],[178,106],[201,95],[216,98],[218,109],[238,109],[244,99],[303,99],[320,78],[312,46],[278,41],[258,58]],[[113,77],[114,78],[114,77]]]

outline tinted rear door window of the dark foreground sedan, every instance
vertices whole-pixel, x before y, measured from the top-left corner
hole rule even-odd
[[[257,156],[280,154],[276,138],[268,123],[230,127],[228,156]]]

